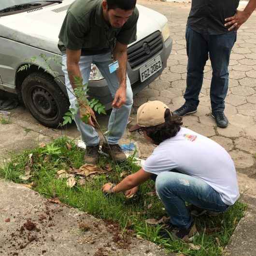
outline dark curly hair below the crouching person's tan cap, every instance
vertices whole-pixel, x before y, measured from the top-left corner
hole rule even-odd
[[[154,144],[159,145],[161,142],[174,137],[183,125],[182,117],[172,114],[170,109],[167,109],[164,114],[165,123],[152,126],[144,127],[143,130],[147,136],[151,138]]]

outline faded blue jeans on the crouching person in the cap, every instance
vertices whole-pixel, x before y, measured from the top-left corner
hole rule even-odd
[[[206,182],[179,172],[164,171],[158,174],[156,193],[170,215],[171,224],[180,228],[189,228],[193,222],[185,202],[217,213],[225,212],[229,207]]]

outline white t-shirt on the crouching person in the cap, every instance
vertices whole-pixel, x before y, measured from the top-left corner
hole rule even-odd
[[[236,169],[228,152],[213,140],[181,128],[176,136],[161,142],[142,165],[144,171],[159,174],[176,169],[202,179],[233,205],[239,198]]]

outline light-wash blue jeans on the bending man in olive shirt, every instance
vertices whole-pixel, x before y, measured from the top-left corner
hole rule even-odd
[[[67,56],[63,55],[62,57],[62,71],[65,74],[65,82],[66,86],[73,91],[69,75],[67,71]],[[99,54],[93,56],[81,56],[79,61],[80,71],[83,78],[83,83],[88,83],[90,70],[91,70],[91,63],[94,63],[99,68],[101,74],[106,79],[109,90],[114,98],[116,90],[119,88],[119,80],[117,77],[116,72],[110,73],[109,71],[109,64],[112,63],[111,54]],[[74,95],[67,90],[70,100],[70,108],[76,108],[76,98]],[[113,109],[109,118],[108,124],[108,131],[109,135],[107,141],[110,144],[117,144],[119,139],[123,136],[127,123],[128,118],[130,115],[132,103],[133,103],[133,95],[131,90],[131,85],[129,78],[127,76],[127,90],[126,90],[126,103],[119,109]],[[86,145],[98,145],[100,143],[99,134],[90,125],[86,125],[81,118],[79,117],[79,113],[75,116],[75,123],[78,130],[81,133],[82,140],[85,142]]]

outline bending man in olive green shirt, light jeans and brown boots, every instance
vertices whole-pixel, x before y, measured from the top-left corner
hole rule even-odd
[[[59,33],[66,86],[73,91],[74,77],[87,83],[92,63],[107,81],[114,99],[107,141],[115,160],[126,159],[118,141],[124,134],[133,103],[127,76],[127,45],[136,41],[139,11],[135,5],[136,0],[76,0],[67,11]],[[117,62],[119,69],[114,65],[113,72],[110,65]],[[68,95],[71,108],[76,108],[77,100],[69,90]],[[88,114],[94,116],[93,110]],[[92,119],[85,124],[78,113],[75,122],[86,144],[85,162],[97,163],[100,139]],[[101,150],[109,154],[105,143]]]

